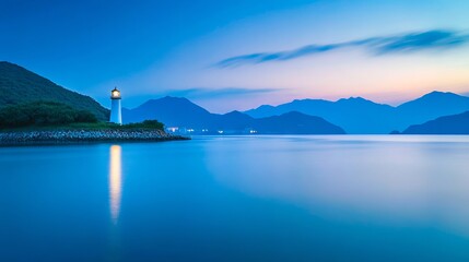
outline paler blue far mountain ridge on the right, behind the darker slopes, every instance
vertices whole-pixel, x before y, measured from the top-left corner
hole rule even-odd
[[[279,106],[260,106],[245,114],[254,118],[300,111],[318,116],[342,127],[347,133],[389,133],[403,130],[437,117],[469,110],[469,97],[453,93],[432,92],[398,107],[376,104],[361,97],[329,102],[323,99],[293,100]]]

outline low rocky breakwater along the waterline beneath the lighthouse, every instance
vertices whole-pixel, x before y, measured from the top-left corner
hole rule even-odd
[[[0,132],[0,145],[189,140],[161,130],[54,130]]]

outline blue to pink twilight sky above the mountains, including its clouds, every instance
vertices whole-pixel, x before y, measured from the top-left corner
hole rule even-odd
[[[467,10],[462,0],[1,0],[0,60],[104,106],[115,85],[127,107],[163,95],[215,112],[306,97],[397,104],[469,92]]]

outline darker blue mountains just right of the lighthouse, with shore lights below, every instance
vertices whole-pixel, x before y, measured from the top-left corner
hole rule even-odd
[[[134,109],[122,110],[124,122],[157,119],[166,128],[185,128],[194,133],[343,134],[344,131],[319,117],[301,112],[255,119],[239,111],[211,114],[186,98],[151,99]]]

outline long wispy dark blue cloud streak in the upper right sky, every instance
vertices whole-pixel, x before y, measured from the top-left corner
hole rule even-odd
[[[362,47],[374,55],[415,52],[430,49],[449,49],[469,44],[469,34],[457,31],[434,29],[409,34],[371,37],[351,41],[308,45],[293,50],[277,52],[257,52],[231,57],[215,63],[218,68],[232,68],[244,64],[257,64],[271,61],[286,61],[305,56],[329,52],[342,48]]]

